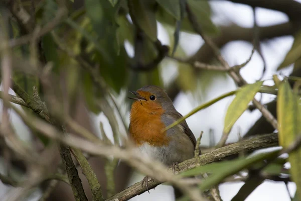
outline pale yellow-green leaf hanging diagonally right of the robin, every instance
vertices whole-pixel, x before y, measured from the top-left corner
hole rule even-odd
[[[263,81],[258,81],[253,84],[243,86],[239,92],[236,93],[235,98],[230,104],[224,123],[224,133],[229,133],[234,123],[248,108],[248,104],[254,98],[255,94],[260,89]]]

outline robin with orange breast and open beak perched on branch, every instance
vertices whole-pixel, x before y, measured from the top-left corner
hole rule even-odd
[[[147,85],[129,92],[136,96],[129,97],[134,100],[130,110],[129,138],[142,154],[172,166],[175,172],[175,166],[179,169],[178,163],[194,157],[195,136],[186,121],[162,132],[182,117],[162,88]],[[144,182],[148,190],[147,176],[142,180],[142,186]]]

